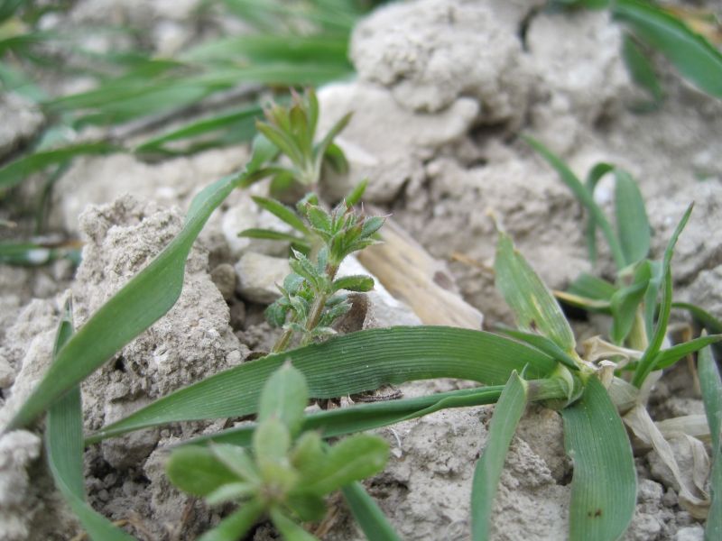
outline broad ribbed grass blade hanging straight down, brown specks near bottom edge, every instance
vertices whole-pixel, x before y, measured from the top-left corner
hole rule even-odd
[[[561,411],[564,446],[574,463],[570,541],[614,541],[634,516],[634,456],[622,419],[596,377]]]

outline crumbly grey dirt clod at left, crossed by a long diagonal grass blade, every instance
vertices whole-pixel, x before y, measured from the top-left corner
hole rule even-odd
[[[74,288],[76,324],[112,297],[179,233],[180,212],[131,196],[89,206],[80,216],[87,244]],[[84,383],[90,428],[116,420],[149,400],[168,394],[245,357],[229,326],[226,302],[208,274],[208,252],[190,252],[179,300],[149,330],[126,345]],[[124,467],[153,450],[157,433],[107,440],[106,461]],[[128,457],[132,458],[128,458]]]

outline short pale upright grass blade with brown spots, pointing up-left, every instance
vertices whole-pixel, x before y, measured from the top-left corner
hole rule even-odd
[[[573,356],[574,335],[559,303],[504,233],[499,233],[496,243],[494,270],[496,289],[514,311],[518,325],[545,335]]]

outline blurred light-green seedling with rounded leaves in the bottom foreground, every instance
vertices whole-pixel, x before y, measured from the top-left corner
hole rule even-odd
[[[216,444],[173,451],[173,484],[209,505],[241,503],[201,540],[242,538],[264,516],[285,539],[316,539],[300,523],[324,517],[324,497],[384,469],[389,449],[378,436],[326,445],[318,432],[301,432],[308,394],[301,372],[286,363],[264,384],[252,450]]]

